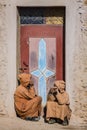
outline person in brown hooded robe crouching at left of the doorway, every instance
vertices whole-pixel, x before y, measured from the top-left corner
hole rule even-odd
[[[42,98],[35,93],[31,75],[19,75],[20,85],[14,93],[14,105],[17,115],[25,120],[38,121],[41,115]]]

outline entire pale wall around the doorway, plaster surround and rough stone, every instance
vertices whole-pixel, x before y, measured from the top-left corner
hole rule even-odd
[[[66,85],[71,124],[87,123],[87,0],[0,0],[0,115],[14,113],[16,88],[16,6],[66,6]],[[11,113],[11,114],[10,114]],[[14,115],[14,114],[13,114]]]

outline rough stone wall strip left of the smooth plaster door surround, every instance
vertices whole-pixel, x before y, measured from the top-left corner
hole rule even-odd
[[[6,27],[6,5],[0,3],[0,115],[6,115],[5,99],[8,93],[7,76],[7,27]]]

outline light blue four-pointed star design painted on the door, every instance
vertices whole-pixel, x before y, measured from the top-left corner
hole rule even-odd
[[[42,38],[39,41],[38,68],[31,72],[38,77],[38,94],[42,97],[42,103],[46,103],[46,81],[55,73],[47,69],[46,64],[46,41]]]

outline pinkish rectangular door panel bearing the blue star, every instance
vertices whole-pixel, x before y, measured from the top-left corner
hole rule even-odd
[[[50,88],[53,79],[55,80],[56,38],[29,38],[29,63],[33,80],[38,83],[37,93],[43,97],[43,102],[46,102],[46,87]]]

